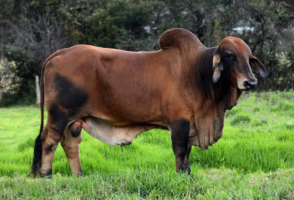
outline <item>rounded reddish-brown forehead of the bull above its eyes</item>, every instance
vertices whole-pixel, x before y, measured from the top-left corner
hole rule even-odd
[[[240,38],[226,37],[220,43],[220,49],[222,51],[228,51],[234,53],[236,56],[246,56],[251,55],[251,50],[249,46]]]

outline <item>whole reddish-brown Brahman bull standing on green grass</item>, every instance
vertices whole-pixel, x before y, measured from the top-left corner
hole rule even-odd
[[[164,32],[155,52],[76,45],[56,51],[41,72],[41,127],[31,174],[51,176],[59,142],[71,171],[84,129],[109,145],[129,145],[144,131],[170,130],[176,171],[191,173],[191,146],[207,150],[223,134],[226,110],[254,88],[263,64],[240,38],[206,48],[188,30]],[[43,130],[44,100],[47,123]]]

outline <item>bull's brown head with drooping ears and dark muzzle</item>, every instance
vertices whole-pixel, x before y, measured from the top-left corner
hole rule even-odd
[[[221,73],[225,73],[240,90],[249,90],[257,85],[253,73],[267,77],[265,67],[251,55],[249,46],[234,37],[223,39],[213,54],[213,83],[218,81]]]

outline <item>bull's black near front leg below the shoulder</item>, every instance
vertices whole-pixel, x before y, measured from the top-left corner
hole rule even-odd
[[[176,171],[186,172],[186,169],[188,169],[188,174],[190,174],[191,172],[189,168],[185,166],[185,156],[188,151],[190,121],[186,119],[171,121],[169,123],[169,130],[171,131],[173,152],[176,157]]]

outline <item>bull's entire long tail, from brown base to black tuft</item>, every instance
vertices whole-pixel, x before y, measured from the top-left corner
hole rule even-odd
[[[41,109],[41,125],[40,125],[40,132],[35,140],[35,147],[34,147],[34,157],[33,163],[31,166],[30,174],[33,175],[35,178],[37,174],[40,174],[41,169],[41,161],[42,161],[42,141],[41,141],[41,133],[43,132],[44,126],[44,71],[47,62],[49,62],[52,58],[60,55],[64,49],[56,51],[54,54],[49,56],[47,60],[44,62],[41,71],[41,78],[40,78],[40,109]]]

